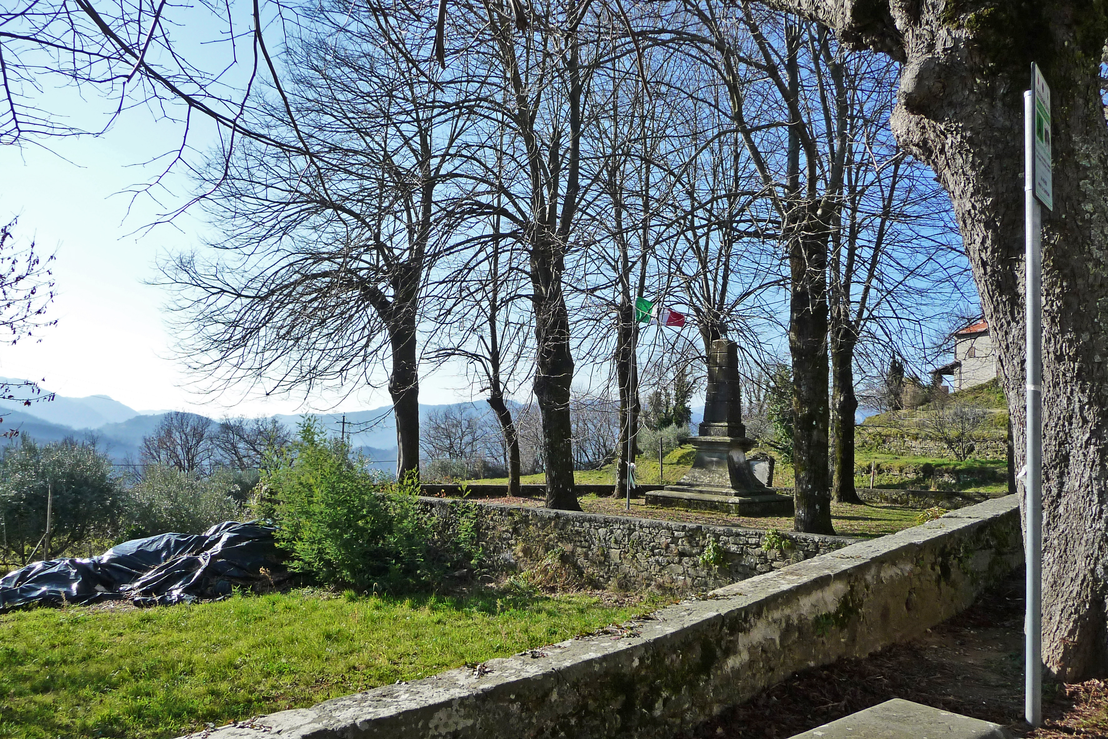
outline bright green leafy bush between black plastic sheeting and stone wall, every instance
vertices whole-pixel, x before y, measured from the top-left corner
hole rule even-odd
[[[418,496],[418,478],[384,480],[309,418],[263,474],[257,511],[276,524],[295,572],[394,591],[435,583],[480,556],[472,511],[463,506],[452,523],[440,523]]]

